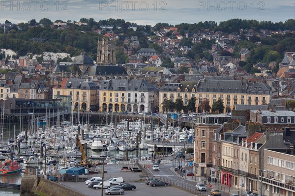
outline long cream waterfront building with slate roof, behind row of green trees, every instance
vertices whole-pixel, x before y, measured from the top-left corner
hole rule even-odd
[[[196,111],[202,112],[201,103],[207,99],[212,107],[219,98],[223,101],[225,112],[235,110],[237,104],[266,105],[272,97],[271,87],[266,83],[254,83],[237,80],[207,80],[185,81],[181,83],[164,84],[160,88],[160,105],[165,99],[175,101],[182,97],[187,105],[191,97],[196,97]],[[160,112],[163,109],[160,107]]]

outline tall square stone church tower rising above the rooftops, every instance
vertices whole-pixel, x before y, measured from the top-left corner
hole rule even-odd
[[[116,64],[116,43],[103,37],[97,42],[97,65]]]

